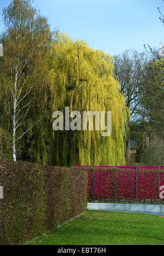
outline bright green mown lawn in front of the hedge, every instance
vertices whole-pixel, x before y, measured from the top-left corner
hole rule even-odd
[[[26,245],[164,245],[163,225],[156,216],[86,211]]]

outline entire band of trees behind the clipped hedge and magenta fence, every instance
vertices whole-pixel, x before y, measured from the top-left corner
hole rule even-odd
[[[162,14],[161,14],[162,15]],[[31,0],[3,10],[0,158],[43,165],[126,165],[130,139],[142,165],[164,165],[164,59],[144,51],[110,56],[51,31]],[[163,22],[162,18],[161,21]],[[149,56],[149,57],[148,57]],[[112,135],[54,131],[56,110],[112,111]]]

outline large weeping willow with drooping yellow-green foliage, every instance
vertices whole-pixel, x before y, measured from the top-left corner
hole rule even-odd
[[[112,111],[112,135],[101,131],[54,131],[54,165],[125,165],[126,121],[129,114],[119,83],[113,77],[113,58],[90,49],[85,42],[56,34],[50,51],[49,76],[56,91],[54,111]],[[82,123],[82,122],[81,122]]]

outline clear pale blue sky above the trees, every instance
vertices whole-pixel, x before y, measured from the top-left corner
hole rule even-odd
[[[0,0],[0,12],[10,0]],[[144,51],[144,44],[159,48],[164,34],[157,7],[163,0],[34,0],[51,28],[72,39],[83,39],[91,48],[114,55],[127,49]],[[0,32],[4,30],[2,15]]]

